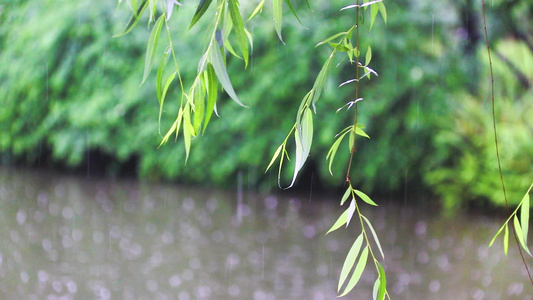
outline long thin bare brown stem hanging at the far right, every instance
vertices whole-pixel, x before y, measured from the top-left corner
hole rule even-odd
[[[492,110],[492,129],[494,131],[494,146],[496,147],[496,161],[498,162],[498,172],[500,174],[500,182],[502,185],[503,198],[505,200],[505,207],[507,208],[507,213],[511,214],[511,210],[509,209],[509,203],[507,201],[507,192],[505,191],[505,183],[503,181],[502,164],[500,161],[500,150],[498,146],[498,132],[496,131],[496,109],[494,105],[494,102],[495,102],[494,101],[494,72],[492,70],[492,58],[490,54],[489,35],[487,33],[487,21],[485,17],[485,1],[484,0],[481,0],[481,6],[482,6],[482,13],[483,13],[483,29],[485,31],[485,42],[487,44],[487,54],[488,54],[489,68],[490,68],[490,92],[491,92],[490,102],[491,102],[491,110]],[[522,248],[520,248],[520,243],[518,242],[518,237],[516,235],[516,230],[514,229],[514,227],[513,227],[513,233],[514,233],[514,238],[516,241],[518,251],[520,253],[520,257],[522,258],[522,262],[524,264],[524,267],[526,268],[529,281],[531,282],[531,285],[533,285],[533,277],[531,277],[531,272],[529,271],[529,267],[527,266],[526,259],[524,258],[524,254],[522,253]]]

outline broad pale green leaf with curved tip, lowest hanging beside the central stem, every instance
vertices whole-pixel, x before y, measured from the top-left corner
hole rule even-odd
[[[301,120],[297,121],[294,139],[296,142],[296,160],[289,188],[294,185],[296,177],[311,151],[311,144],[313,143],[313,112],[311,109],[305,108]]]

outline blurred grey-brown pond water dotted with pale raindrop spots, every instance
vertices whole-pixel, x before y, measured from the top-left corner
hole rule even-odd
[[[2,299],[335,299],[356,224],[324,235],[340,195],[218,191],[0,169]],[[380,201],[377,201],[380,202]],[[384,201],[382,201],[384,202]],[[532,299],[502,219],[385,201],[393,299]],[[529,262],[531,262],[531,258]],[[345,299],[371,299],[367,268]]]

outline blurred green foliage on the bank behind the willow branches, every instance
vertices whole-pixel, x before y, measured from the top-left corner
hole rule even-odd
[[[508,19],[523,20],[531,11],[527,1],[518,2],[522,3],[518,12],[501,8]],[[449,207],[477,198],[502,203],[491,139],[486,57],[483,44],[473,34],[481,34],[482,26],[479,9],[469,11],[469,3],[390,2],[388,24],[379,20],[371,32],[361,32],[361,49],[372,46],[371,67],[379,73],[361,84],[364,100],[359,104],[359,122],[371,139],[359,143],[352,179],[365,191],[430,188]],[[179,101],[178,86],[171,87],[167,95],[161,133],[155,72],[139,87],[150,32],[147,19],[128,35],[114,39],[112,35],[124,28],[128,16],[113,1],[0,4],[2,161],[76,167],[86,165],[87,160],[95,163],[97,157],[110,157],[104,166],[110,173],[135,161],[141,178],[228,186],[242,173],[248,186],[275,187],[276,172],[265,175],[264,169],[329,54],[314,46],[345,30],[353,18],[330,1],[311,4],[312,11],[305,4],[295,7],[303,24],[287,12],[282,31],[285,45],[277,38],[268,14],[246,25],[254,35],[250,65],[243,70],[242,61],[231,57],[228,71],[239,98],[250,108],[236,105],[221,93],[220,118],[212,120],[205,135],[193,141],[187,165],[181,140],[157,149],[161,134],[176,116],[173,104]],[[207,25],[207,20],[200,20],[199,26],[187,31],[190,19],[183,16],[192,16],[195,5],[185,3],[179,8],[185,13],[174,13],[170,20],[186,82],[196,75],[205,39],[201,28]],[[499,41],[498,51],[513,59],[531,82],[531,50],[507,37],[516,28],[498,27],[508,20],[498,14],[497,5],[504,3],[494,4],[489,16],[496,20],[489,24],[492,42]],[[249,14],[252,7],[243,3],[241,9]],[[477,18],[475,30],[464,23],[465,11],[472,14],[471,22]],[[525,30],[518,29],[531,38],[530,21],[522,22]],[[476,51],[467,50],[472,41]],[[163,48],[158,48],[156,60]],[[523,59],[529,65],[513,51],[525,53]],[[504,175],[508,190],[519,194],[533,178],[533,124],[527,117],[532,92],[531,87],[517,83],[509,65],[498,58],[494,61]],[[352,110],[335,111],[353,100],[350,85],[338,88],[353,76],[353,69],[333,69],[317,107],[307,172],[324,185],[344,182],[348,151],[337,155],[334,176],[328,172],[325,157],[335,134],[352,122]],[[284,175],[288,182],[290,170]],[[309,178],[300,179],[300,185],[309,184]]]

